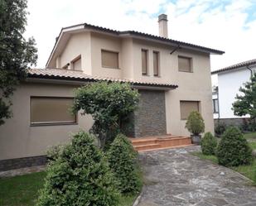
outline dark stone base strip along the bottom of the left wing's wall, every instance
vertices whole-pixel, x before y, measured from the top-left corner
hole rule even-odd
[[[9,160],[0,160],[0,171],[15,170],[23,167],[46,165],[46,156],[30,156]]]

